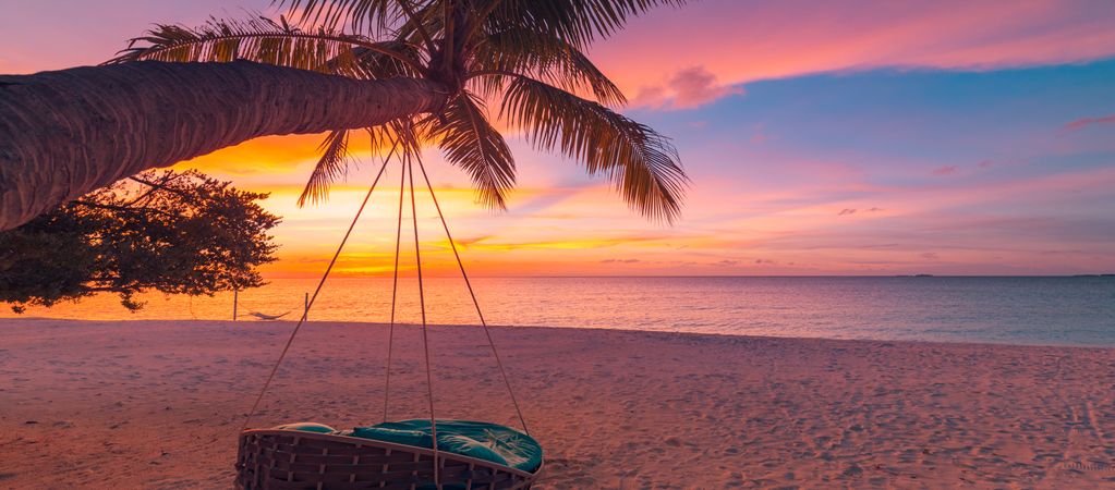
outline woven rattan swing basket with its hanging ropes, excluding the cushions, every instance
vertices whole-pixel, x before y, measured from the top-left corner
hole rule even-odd
[[[418,160],[418,165],[419,168],[421,168],[421,160]],[[326,277],[329,276],[329,272],[337,262],[337,257],[345,247],[345,243],[352,233],[352,227],[356,225],[360,217],[360,213],[363,212],[365,206],[368,204],[368,198],[371,196],[372,190],[375,190],[376,184],[379,183],[379,178],[384,175],[386,167],[387,161],[385,159],[384,166],[376,176],[376,180],[371,184],[371,188],[368,189],[368,195],[365,196],[363,204],[361,204],[356,217],[352,219],[352,225],[349,226],[348,233],[345,234],[345,238],[337,248],[337,253],[333,255],[329,267],[327,267],[321,282],[318,284],[318,287],[313,293],[313,296],[308,302],[306,313],[303,313],[302,318],[294,326],[293,332],[291,332],[290,339],[287,341],[287,345],[283,347],[282,354],[280,354],[279,360],[272,367],[268,381],[263,384],[263,389],[260,391],[259,396],[255,399],[255,403],[249,412],[248,420],[244,422],[244,430],[240,434],[239,453],[236,455],[235,488],[237,489],[525,490],[531,488],[539,472],[542,470],[541,461],[539,467],[531,472],[493,461],[471,458],[433,448],[420,448],[374,439],[342,435],[338,433],[319,433],[293,429],[248,429],[252,414],[255,413],[260,400],[263,398],[279,369],[280,363],[287,355],[287,351],[290,349],[290,345],[294,340],[294,335],[298,334],[299,329],[306,322],[310,307],[313,306],[314,300],[318,297],[318,293],[320,293],[321,286],[326,282]],[[434,424],[435,420],[433,388],[429,371],[429,351],[426,341],[426,311],[421,286],[421,256],[418,249],[418,224],[415,218],[413,164],[410,161],[405,161],[404,170],[404,177],[409,176],[411,220],[415,226],[415,257],[418,271],[418,292],[423,312],[423,344],[426,347],[427,388],[430,390],[428,393],[430,400],[430,424],[434,427],[433,441],[435,441],[435,443],[433,445],[438,445],[436,442],[436,425]],[[500,373],[507,385],[508,394],[515,405],[515,412],[518,415],[520,422],[523,424],[523,430],[526,431],[526,422],[523,419],[522,411],[518,409],[518,402],[515,400],[510,381],[507,381],[507,375],[506,372],[504,372],[503,364],[495,350],[495,344],[492,343],[492,336],[487,332],[487,323],[484,321],[484,315],[479,310],[479,304],[476,302],[476,295],[473,293],[472,284],[468,282],[467,274],[465,274],[464,264],[460,262],[460,255],[457,253],[452,235],[449,235],[448,225],[445,224],[445,216],[442,214],[442,208],[437,203],[437,197],[434,195],[434,188],[429,184],[429,177],[426,176],[425,168],[421,168],[421,173],[424,179],[426,180],[426,186],[429,189],[430,198],[434,202],[435,207],[437,207],[438,216],[442,218],[442,225],[445,227],[446,236],[453,246],[457,264],[460,266],[462,276],[465,280],[465,284],[468,286],[473,303],[476,305],[476,312],[479,315],[481,325],[484,327],[485,335],[487,336],[488,344],[492,346],[492,353],[500,369]],[[398,285],[399,235],[401,234],[403,223],[403,185],[404,180],[403,177],[400,177],[399,229],[396,235],[395,287]],[[394,339],[395,327],[394,297],[395,293],[392,292],[390,324],[392,335],[391,339]],[[391,340],[389,339],[388,345],[390,344]],[[388,350],[387,375],[389,382],[390,350]],[[388,393],[389,392],[385,390],[385,419],[387,416],[386,396]]]

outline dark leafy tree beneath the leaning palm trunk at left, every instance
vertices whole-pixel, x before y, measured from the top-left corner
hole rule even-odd
[[[0,301],[22,313],[95,293],[213,295],[263,285],[279,217],[196,170],[148,170],[0,232]]]

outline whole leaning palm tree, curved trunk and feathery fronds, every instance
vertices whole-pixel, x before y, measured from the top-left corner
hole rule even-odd
[[[300,205],[343,174],[357,131],[385,157],[436,144],[502,208],[515,160],[496,118],[605,176],[643,215],[678,216],[677,151],[612,109],[626,99],[584,51],[683,0],[277,2],[293,23],[157,26],[98,67],[0,76],[0,229],[144,169],[287,134],[328,133]]]

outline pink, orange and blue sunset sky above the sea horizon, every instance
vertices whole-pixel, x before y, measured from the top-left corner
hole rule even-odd
[[[275,12],[268,0],[6,1],[0,72],[97,63],[152,22],[249,11]],[[475,204],[436,150],[426,161],[478,274],[1113,273],[1113,26],[1109,0],[706,0],[637,19],[592,56],[631,100],[622,111],[681,153],[692,182],[673,226],[512,135],[520,187],[505,213]],[[327,204],[298,208],[321,139],[180,165],[272,193],[284,217],[272,276],[322,271],[378,168],[358,154]],[[449,272],[426,197],[424,258]],[[389,170],[339,272],[389,273],[397,198]]]

